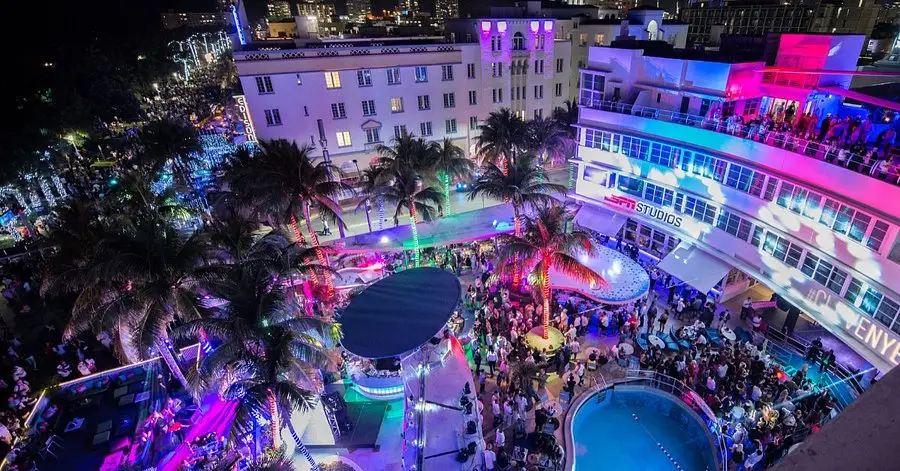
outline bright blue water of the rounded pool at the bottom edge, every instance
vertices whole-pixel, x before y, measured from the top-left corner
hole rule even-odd
[[[572,438],[574,471],[676,470],[676,463],[685,471],[717,469],[716,449],[700,419],[677,398],[640,387],[589,398],[575,414]]]

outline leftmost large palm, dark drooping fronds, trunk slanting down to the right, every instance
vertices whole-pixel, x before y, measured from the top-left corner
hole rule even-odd
[[[117,336],[117,353],[134,362],[155,347],[188,387],[170,351],[168,330],[199,317],[198,285],[208,250],[199,234],[185,238],[163,221],[122,226],[98,242],[86,263],[51,269],[46,292],[77,293],[64,337],[92,328]]]

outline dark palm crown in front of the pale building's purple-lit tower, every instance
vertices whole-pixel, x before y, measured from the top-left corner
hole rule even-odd
[[[492,111],[478,130],[475,151],[481,156],[482,163],[493,163],[505,169],[510,163],[514,164],[518,153],[527,147],[525,121],[509,108]]]

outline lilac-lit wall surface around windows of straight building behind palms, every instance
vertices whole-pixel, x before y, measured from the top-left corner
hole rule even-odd
[[[336,165],[342,166],[345,172],[355,173],[353,159],[358,160],[360,169],[363,169],[375,156],[374,145],[366,144],[364,125],[369,127],[380,124],[381,141],[390,143],[394,137],[394,126],[406,125],[407,132],[418,136],[420,123],[431,122],[432,136],[428,139],[442,140],[449,137],[468,152],[477,135],[477,130],[469,130],[471,116],[481,121],[491,111],[509,107],[524,112],[525,117],[531,119],[536,109],[542,110],[543,116],[550,116],[555,107],[562,106],[570,95],[570,44],[567,41],[554,41],[550,32],[546,51],[523,51],[523,57],[515,57],[516,60],[528,60],[528,74],[512,76],[509,68],[512,60],[509,51],[512,34],[517,30],[528,29],[530,25],[530,20],[519,21],[522,23],[509,23],[504,50],[498,53],[490,51],[489,42],[485,45],[428,45],[420,46],[419,49],[414,46],[387,45],[268,53],[236,52],[236,64],[259,139],[284,138],[298,143],[311,143],[316,146],[315,155],[321,155],[317,128],[317,120],[321,119],[332,160]],[[540,20],[541,25],[543,22],[543,19]],[[268,59],[262,59],[263,55]],[[556,72],[556,58],[564,60],[562,73]],[[536,59],[545,61],[542,75],[534,74]],[[503,64],[502,77],[492,76],[492,62]],[[474,79],[467,76],[467,64],[475,65]],[[427,82],[415,81],[417,65],[427,67]],[[442,80],[442,65],[453,67],[452,81]],[[389,85],[387,70],[393,67],[400,69],[401,83]],[[361,68],[371,71],[372,86],[358,85],[357,70]],[[326,87],[326,71],[337,71],[340,74],[341,88]],[[270,77],[273,93],[257,92],[257,76]],[[562,86],[559,97],[554,93],[556,83]],[[535,85],[543,85],[543,98],[534,98]],[[513,86],[525,87],[527,98],[513,101],[510,96]],[[495,104],[492,103],[492,90],[498,88],[503,90],[503,102]],[[469,104],[470,90],[477,92],[475,105]],[[444,93],[454,93],[454,108],[444,108]],[[418,109],[417,98],[420,95],[429,96],[430,110]],[[390,100],[394,97],[403,99],[403,112],[391,112]],[[363,100],[375,100],[374,116],[363,116]],[[335,119],[331,105],[341,102],[344,103],[347,117]],[[282,120],[280,126],[266,125],[264,110],[267,109],[279,110]],[[456,133],[445,132],[447,119],[456,119]],[[337,133],[341,131],[350,132],[351,146],[337,146]]]

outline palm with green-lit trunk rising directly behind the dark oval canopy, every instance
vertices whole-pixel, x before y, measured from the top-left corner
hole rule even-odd
[[[382,180],[375,194],[384,201],[396,204],[394,225],[399,224],[400,212],[406,209],[409,213],[410,230],[413,236],[413,261],[419,266],[419,230],[418,220],[421,215],[425,221],[431,221],[441,211],[441,192],[432,184],[430,175],[423,174],[410,166],[398,170],[385,171],[379,175]]]

